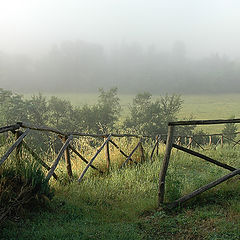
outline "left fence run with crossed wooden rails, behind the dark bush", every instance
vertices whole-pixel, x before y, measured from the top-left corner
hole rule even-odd
[[[20,131],[20,128],[25,128],[26,131],[22,132]],[[58,135],[58,137],[63,141],[63,146],[60,149],[56,160],[54,161],[54,163],[52,164],[52,166],[48,166],[39,156],[38,154],[33,151],[29,145],[23,140],[27,134],[29,134],[30,131],[46,131],[46,132],[52,132]],[[142,146],[142,139],[143,137],[136,135],[136,134],[87,134],[87,133],[77,133],[77,132],[72,132],[72,133],[63,133],[61,131],[59,131],[58,129],[54,129],[54,128],[50,128],[50,127],[36,127],[36,126],[32,126],[30,124],[25,124],[22,122],[18,122],[15,125],[10,125],[10,126],[6,126],[6,127],[2,127],[0,128],[0,133],[4,133],[4,132],[8,132],[11,131],[13,134],[16,135],[17,139],[16,141],[12,144],[12,146],[9,148],[9,150],[2,156],[2,158],[0,159],[0,166],[5,162],[5,160],[9,157],[9,155],[12,153],[12,151],[14,149],[16,149],[17,151],[17,156],[19,154],[19,149],[20,147],[24,147],[32,156],[33,158],[38,161],[45,169],[48,170],[47,176],[46,176],[46,181],[49,181],[50,178],[53,176],[56,180],[58,179],[57,175],[55,174],[55,169],[57,168],[59,161],[61,159],[61,157],[63,156],[63,154],[65,155],[65,162],[66,162],[66,167],[67,167],[67,172],[70,178],[73,177],[72,174],[72,167],[71,167],[71,160],[70,160],[70,150],[72,150],[73,153],[75,153],[83,162],[85,162],[87,164],[86,168],[83,170],[83,172],[81,173],[78,181],[81,182],[85,173],[87,172],[87,170],[89,169],[89,167],[99,171],[100,173],[102,173],[101,170],[99,170],[97,167],[93,166],[92,163],[93,161],[96,159],[96,157],[99,155],[99,153],[104,149],[105,147],[105,156],[106,156],[106,161],[107,161],[107,169],[109,170],[110,168],[110,151],[109,151],[109,143],[111,143],[115,148],[117,148],[119,150],[119,152],[126,157],[126,160],[124,161],[124,163],[122,164],[121,168],[126,166],[127,163],[129,161],[136,163],[133,159],[132,159],[132,155],[134,154],[134,152],[136,152],[136,150],[139,148],[140,149],[140,153],[141,153],[141,160],[144,160],[144,149]],[[76,136],[90,136],[90,137],[101,137],[104,138],[104,143],[102,144],[102,146],[96,151],[95,155],[91,158],[90,161],[88,161],[86,158],[84,158],[72,145],[71,142],[73,140],[74,137]],[[132,152],[128,155],[126,154],[112,139],[111,137],[137,137],[140,138],[138,144],[136,145],[136,147],[132,150]],[[145,136],[146,137],[146,136]]]

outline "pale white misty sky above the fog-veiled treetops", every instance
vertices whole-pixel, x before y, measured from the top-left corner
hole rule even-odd
[[[40,54],[83,40],[240,59],[239,0],[0,0],[0,51]]]

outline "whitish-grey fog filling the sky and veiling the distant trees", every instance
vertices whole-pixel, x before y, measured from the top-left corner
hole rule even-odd
[[[0,0],[0,88],[240,91],[238,0]]]

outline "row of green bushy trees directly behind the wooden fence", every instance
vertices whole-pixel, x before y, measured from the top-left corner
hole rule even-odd
[[[21,121],[36,126],[57,128],[66,133],[114,132],[155,138],[158,134],[167,134],[168,122],[178,120],[177,116],[182,105],[180,95],[166,94],[153,99],[149,92],[142,92],[136,94],[129,104],[127,116],[123,117],[117,88],[109,90],[100,88],[97,102],[83,106],[74,106],[70,101],[55,96],[47,98],[40,93],[25,99],[23,95],[0,88],[0,126]],[[237,130],[236,124],[226,124],[222,133],[234,140]],[[203,130],[196,131],[195,126],[179,126],[175,131],[176,136],[204,134],[207,133]],[[52,141],[49,136],[42,135],[41,138],[45,143]],[[195,140],[200,144],[208,141],[204,136],[196,136]],[[213,138],[213,142],[217,141],[218,139]]]

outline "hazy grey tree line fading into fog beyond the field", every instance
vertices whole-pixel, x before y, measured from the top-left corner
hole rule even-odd
[[[193,59],[184,43],[171,50],[122,43],[106,51],[101,45],[68,41],[35,59],[0,51],[3,88],[21,91],[96,92],[117,86],[121,93],[232,93],[240,89],[240,63],[212,54]]]

